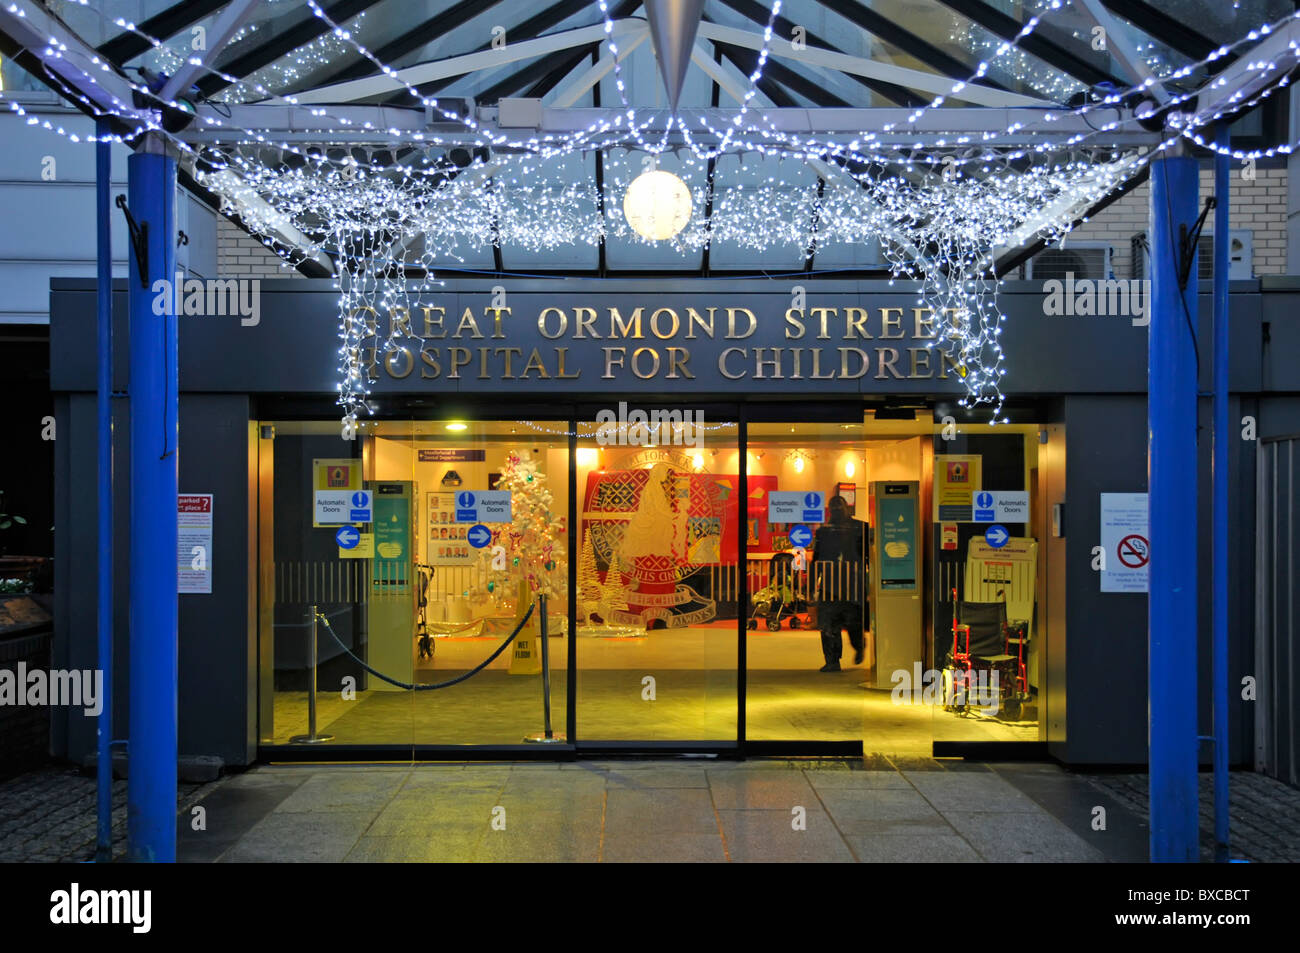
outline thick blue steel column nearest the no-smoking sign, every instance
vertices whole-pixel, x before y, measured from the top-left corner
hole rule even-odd
[[[1180,226],[1196,222],[1200,176],[1174,146],[1150,172],[1148,359],[1148,746],[1150,859],[1197,859],[1196,268],[1179,289]]]

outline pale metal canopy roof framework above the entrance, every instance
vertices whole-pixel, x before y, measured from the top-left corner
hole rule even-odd
[[[381,1],[335,0],[322,4],[322,9],[330,20],[346,23],[378,7]],[[410,56],[432,39],[451,34],[474,17],[500,7],[503,1],[448,1],[433,16],[378,44],[376,56],[384,62]],[[936,3],[1004,39],[1014,38],[1024,26],[987,0]],[[848,20],[932,72],[841,52],[835,43],[806,29],[806,46],[796,51],[781,39],[793,35],[797,26],[792,18],[796,14],[786,5],[788,16],[780,16],[774,22],[779,39],[768,47],[768,61],[759,82],[760,99],[750,108],[750,116],[758,122],[803,135],[857,134],[893,126],[898,131],[878,131],[874,139],[885,148],[950,147],[963,137],[976,139],[982,146],[1005,148],[1041,142],[1044,135],[1062,139],[1071,135],[1095,137],[1087,117],[1066,113],[1046,122],[1044,112],[1057,104],[1009,90],[991,78],[970,83],[957,95],[952,94],[953,83],[968,79],[975,66],[915,35],[896,20],[874,9],[866,0],[815,0],[815,7]],[[178,95],[191,86],[199,91],[199,121],[182,133],[187,142],[195,146],[229,143],[240,138],[230,131],[231,127],[256,129],[268,139],[304,144],[330,142],[393,146],[402,142],[428,142],[434,137],[442,143],[455,144],[476,138],[464,126],[434,121],[442,117],[433,117],[419,104],[412,104],[412,96],[402,82],[380,73],[373,62],[359,53],[350,55],[343,65],[318,79],[312,88],[295,92],[296,105],[285,100],[205,103],[204,99],[230,86],[226,77],[243,79],[330,30],[324,18],[308,14],[278,30],[266,42],[226,56],[226,43],[263,9],[261,0],[190,0],[164,9],[140,25],[142,31],[166,39],[183,34],[200,20],[216,18],[208,27],[211,49],[202,55],[199,62],[187,61],[162,91],[165,98]],[[1079,0],[1076,9],[1092,22],[1106,27],[1114,65],[1124,75],[1098,69],[1039,33],[1022,38],[1019,48],[1086,86],[1112,83],[1124,87],[1145,82],[1157,104],[1165,104],[1170,99],[1170,92],[1154,81],[1126,30],[1119,29],[1115,21],[1118,16],[1139,30],[1157,34],[1173,49],[1190,57],[1205,57],[1218,48],[1193,27],[1143,0]],[[633,53],[649,55],[645,52],[649,49],[649,44],[645,44],[646,25],[637,16],[640,10],[641,0],[611,4],[620,60],[624,62]],[[584,13],[588,14],[586,22],[572,25]],[[725,13],[731,21],[738,17],[754,29],[719,22],[719,13]],[[742,88],[748,88],[748,77],[754,72],[758,51],[764,46],[762,29],[767,26],[768,16],[770,7],[762,0],[710,0],[706,4],[692,62],[708,78],[714,95],[708,107],[684,108],[684,116],[703,111],[710,113],[714,125],[719,127],[729,121],[736,108],[716,105],[716,92],[725,88],[737,100],[744,95],[737,95],[736,81],[740,79]],[[1251,64],[1284,51],[1295,33],[1294,25],[1290,25],[1287,30],[1266,38],[1252,51],[1247,64],[1232,56],[1222,57],[1216,62],[1218,72],[1213,81],[1201,91],[1201,107],[1218,104],[1228,108],[1249,99],[1261,85],[1258,73],[1249,68]],[[614,120],[621,114],[623,109],[619,107],[580,105],[585,96],[594,95],[595,87],[614,69],[604,44],[604,25],[592,0],[555,0],[511,26],[508,35],[506,49],[493,49],[490,43],[482,43],[465,53],[407,66],[398,72],[398,77],[419,88],[421,95],[442,94],[476,77],[486,77],[486,85],[476,83],[478,92],[468,105],[477,122],[489,131],[510,129],[500,120],[502,104],[512,96],[543,100],[540,109],[542,118],[536,126],[538,134],[578,131],[590,127],[593,122]],[[38,75],[43,72],[47,75],[52,73],[57,83],[84,96],[86,101],[74,100],[74,105],[83,111],[116,113],[127,122],[146,114],[134,107],[133,90],[125,77],[126,64],[148,49],[148,43],[136,34],[124,30],[101,43],[98,49],[91,48],[56,17],[34,8],[22,16],[16,16],[13,10],[0,10],[0,38],[8,46],[8,52],[17,55],[20,65],[30,66]],[[60,44],[60,56],[42,55],[40,51],[49,40]],[[208,66],[225,77],[211,72]],[[828,74],[842,77],[846,86],[841,83],[838,91],[837,87],[828,86]],[[862,87],[868,96],[879,96],[897,107],[855,105],[846,99],[853,87]],[[961,100],[965,105],[924,111],[914,122],[907,122],[918,107],[937,95]],[[550,101],[546,101],[547,98]],[[326,114],[321,114],[322,105],[328,107]],[[515,113],[517,111],[511,112]],[[650,133],[662,129],[671,118],[667,111],[642,109],[640,116],[653,120]],[[1008,134],[1008,129],[1017,131]],[[514,131],[520,131],[520,127],[514,127]],[[699,138],[707,142],[707,137]],[[1126,131],[1108,134],[1104,142],[1117,148],[1135,148],[1154,146],[1161,138],[1157,133],[1128,125]],[[182,168],[194,172],[195,166],[186,163]],[[819,168],[816,172],[823,182],[841,174],[833,166]],[[242,222],[235,221],[242,226]],[[282,231],[273,239],[285,248],[303,247],[304,241],[291,231]],[[1011,256],[1018,256],[1018,251],[1009,252],[1008,257]],[[499,252],[495,254],[495,261],[499,269]],[[320,273],[333,269],[333,263],[325,255],[316,255],[315,261],[307,267]],[[701,268],[707,269],[707,260],[701,263]],[[603,264],[599,270],[604,273]]]

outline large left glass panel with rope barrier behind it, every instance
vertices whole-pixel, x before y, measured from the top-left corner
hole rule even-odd
[[[373,421],[355,445],[337,424],[274,426],[263,744],[299,744],[306,731],[313,605],[325,746],[521,744],[543,727],[541,612],[507,640],[538,593],[549,603],[551,720],[563,733],[566,423]],[[359,455],[343,459],[354,446]],[[342,524],[312,519],[312,473],[330,458],[360,481],[348,490],[370,494],[372,510]],[[508,494],[508,506],[484,510],[485,491],[498,503]]]

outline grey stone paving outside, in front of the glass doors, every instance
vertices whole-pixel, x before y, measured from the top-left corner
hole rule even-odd
[[[577,762],[264,766],[183,823],[191,862],[1098,862],[1141,859],[1122,809],[1048,764]],[[221,823],[213,823],[220,818]]]

